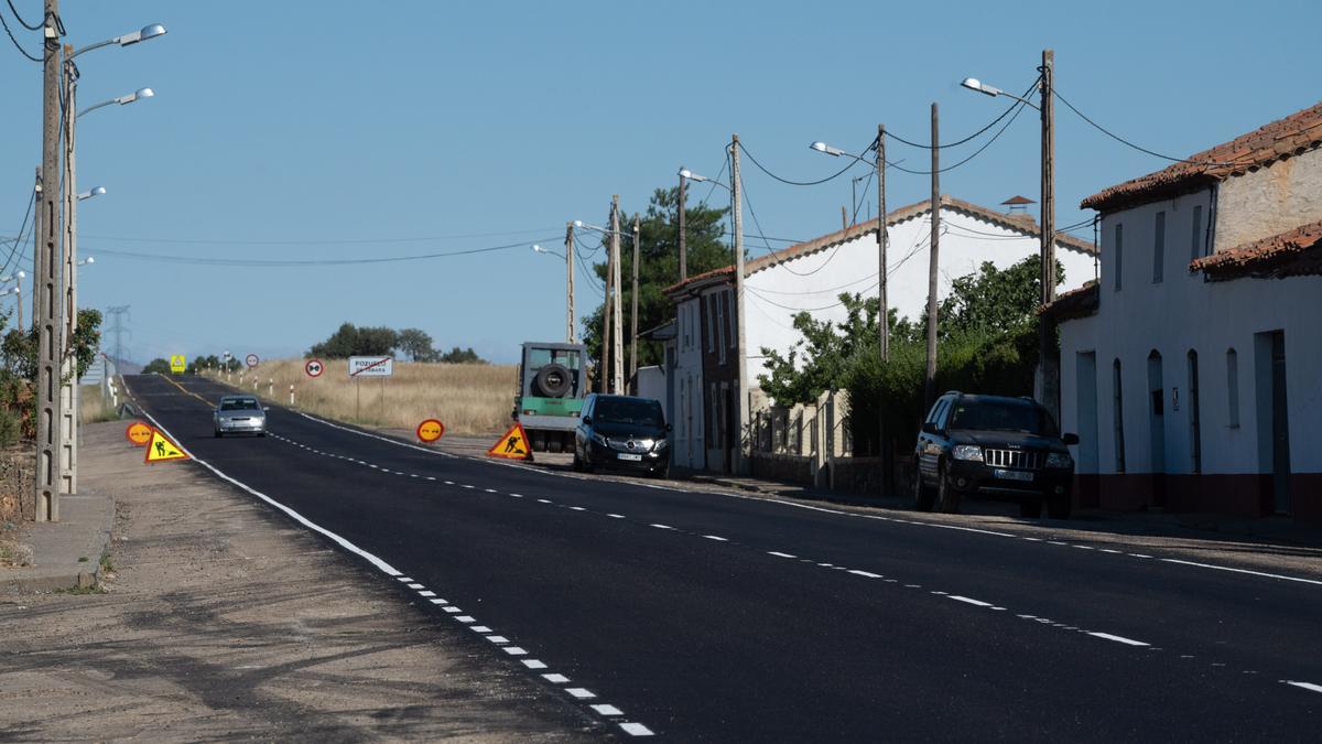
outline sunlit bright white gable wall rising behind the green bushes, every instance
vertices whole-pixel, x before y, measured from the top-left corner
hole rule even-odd
[[[976,273],[984,261],[1005,269],[1040,250],[1036,237],[951,208],[941,209],[941,222],[939,298],[949,294],[952,279]],[[887,302],[900,318],[917,319],[927,306],[931,232],[929,213],[888,229]],[[1062,291],[1093,278],[1092,256],[1059,245],[1056,257],[1064,265]],[[876,233],[870,232],[747,278],[744,332],[751,387],[758,387],[758,376],[765,373],[763,347],[784,353],[800,340],[793,328],[797,312],[809,310],[818,320],[838,322],[845,318],[845,308],[837,302],[841,293],[876,297]]]

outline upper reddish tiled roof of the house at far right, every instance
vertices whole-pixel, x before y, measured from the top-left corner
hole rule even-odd
[[[1199,191],[1322,144],[1322,103],[1290,114],[1243,136],[1190,155],[1187,162],[1147,173],[1084,199],[1084,209],[1113,212]]]

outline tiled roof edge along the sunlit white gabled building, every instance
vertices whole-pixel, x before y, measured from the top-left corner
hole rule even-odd
[[[923,201],[917,201],[914,204],[908,204],[906,207],[900,207],[898,209],[892,209],[890,213],[886,214],[886,225],[894,226],[900,222],[907,222],[908,220],[914,220],[921,217],[923,214],[927,214],[928,212],[931,212],[931,201],[932,200],[929,199],[924,199]],[[999,225],[1002,228],[1017,230],[1019,233],[1023,233],[1025,236],[1030,237],[1040,236],[1036,220],[1025,213],[1006,214],[1003,212],[997,212],[995,209],[990,209],[980,204],[973,204],[972,201],[954,199],[953,196],[941,196],[941,207],[944,209],[953,209],[956,212],[970,214],[973,217],[992,222],[994,225]],[[791,261],[795,258],[812,256],[813,253],[828,250],[842,242],[851,241],[854,238],[871,234],[875,232],[876,232],[876,220],[869,220],[866,222],[850,225],[842,230],[836,230],[834,233],[825,234],[820,238],[795,244],[789,248],[784,248],[781,250],[768,253],[767,256],[760,256],[758,258],[747,261],[744,263],[744,275],[747,277],[750,274],[756,274],[763,269],[769,269],[772,266],[777,266],[780,263],[784,263],[785,261]],[[1056,245],[1071,250],[1077,250],[1088,256],[1096,254],[1096,249],[1093,248],[1092,242],[1071,236],[1069,233],[1056,233]],[[665,291],[666,294],[672,294],[683,289],[697,289],[698,286],[705,285],[709,281],[723,278],[726,275],[732,278],[734,273],[735,273],[734,266],[722,266],[720,269],[713,269],[711,271],[689,277],[687,281],[672,285],[666,287]]]

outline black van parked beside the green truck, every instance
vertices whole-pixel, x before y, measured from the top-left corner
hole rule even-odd
[[[670,473],[670,442],[661,404],[654,398],[592,393],[574,432],[574,470],[596,467]]]

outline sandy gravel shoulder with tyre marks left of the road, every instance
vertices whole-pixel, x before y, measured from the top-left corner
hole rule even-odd
[[[564,741],[600,729],[379,575],[189,463],[85,429],[94,593],[0,598],[0,737]]]

